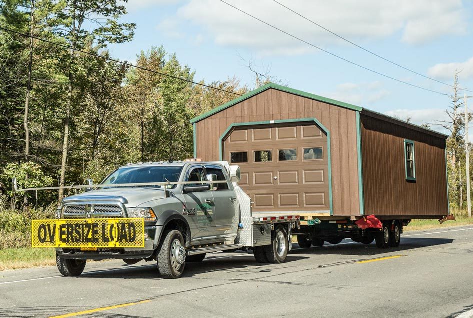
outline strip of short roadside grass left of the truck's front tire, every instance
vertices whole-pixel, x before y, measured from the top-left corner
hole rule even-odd
[[[55,264],[54,248],[21,247],[0,249],[0,271]]]

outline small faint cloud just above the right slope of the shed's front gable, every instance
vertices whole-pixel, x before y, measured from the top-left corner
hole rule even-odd
[[[359,84],[339,84],[337,85],[335,92],[326,93],[325,96],[365,107],[382,100],[389,94],[390,92],[382,87],[382,83],[375,81]]]

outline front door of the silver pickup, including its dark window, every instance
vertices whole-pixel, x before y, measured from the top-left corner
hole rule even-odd
[[[205,181],[205,171],[202,165],[190,166],[185,175],[185,181]],[[192,185],[192,184],[186,184]],[[202,185],[196,183],[195,185]],[[211,191],[183,193],[186,206],[183,213],[191,228],[192,244],[206,243],[215,240],[215,206]]]

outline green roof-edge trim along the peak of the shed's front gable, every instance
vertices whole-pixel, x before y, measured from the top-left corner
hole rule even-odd
[[[283,91],[283,92],[286,92],[286,93],[291,93],[291,94],[295,94],[295,95],[299,95],[299,96],[302,96],[302,97],[307,97],[307,98],[310,98],[310,99],[314,99],[314,100],[317,100],[317,101],[321,101],[321,102],[325,102],[325,103],[328,103],[328,104],[333,104],[333,105],[336,105],[336,106],[341,106],[341,107],[344,107],[344,108],[348,108],[348,109],[352,109],[352,110],[356,110],[356,111],[361,111],[363,108],[360,107],[360,106],[356,106],[356,105],[352,105],[352,104],[348,104],[348,103],[345,103],[345,102],[340,102],[340,101],[337,101],[337,100],[334,100],[334,99],[331,99],[331,98],[327,98],[327,97],[323,97],[323,96],[319,96],[319,95],[315,95],[315,94],[312,94],[312,93],[307,93],[307,92],[304,92],[304,91],[299,91],[299,90],[296,90],[296,89],[293,89],[293,88],[289,88],[289,87],[286,87],[286,86],[282,86],[282,85],[279,85],[279,84],[275,84],[275,83],[268,83],[268,84],[265,84],[259,88],[257,88],[256,90],[253,90],[251,92],[248,92],[238,98],[235,98],[234,100],[231,100],[223,105],[220,105],[210,111],[208,111],[207,113],[204,113],[200,116],[197,116],[197,117],[194,117],[191,119],[191,124],[193,123],[196,123],[204,118],[207,118],[215,113],[218,113],[228,107],[231,107],[237,103],[240,103],[256,94],[259,94],[267,89],[270,89],[270,88],[273,88],[273,89],[276,89],[276,90],[279,90],[279,91]]]

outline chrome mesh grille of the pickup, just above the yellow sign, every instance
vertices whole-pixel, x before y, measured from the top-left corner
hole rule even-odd
[[[86,206],[87,209],[86,209]],[[87,211],[90,211],[90,217],[122,217],[123,210],[118,204],[71,204],[63,209],[64,218],[87,218]]]

